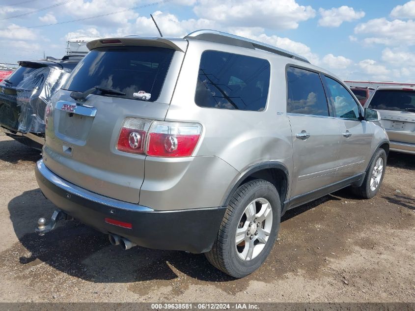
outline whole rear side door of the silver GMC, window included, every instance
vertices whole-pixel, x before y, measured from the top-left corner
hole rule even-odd
[[[287,84],[294,152],[293,198],[333,182],[339,166],[340,131],[319,73],[288,67]]]

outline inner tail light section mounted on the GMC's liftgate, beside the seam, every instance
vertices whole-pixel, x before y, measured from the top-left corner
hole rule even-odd
[[[118,137],[117,149],[144,154],[144,143],[150,124],[150,120],[126,118]]]

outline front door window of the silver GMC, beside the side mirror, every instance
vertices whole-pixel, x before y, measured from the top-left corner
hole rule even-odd
[[[359,119],[359,106],[352,94],[337,81],[326,77],[330,90],[330,97],[334,104],[335,115],[340,118]]]

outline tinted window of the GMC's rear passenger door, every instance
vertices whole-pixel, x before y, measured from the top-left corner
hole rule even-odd
[[[326,94],[319,74],[289,67],[287,113],[329,115]]]

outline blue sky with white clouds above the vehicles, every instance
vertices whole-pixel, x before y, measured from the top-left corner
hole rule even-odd
[[[43,51],[61,57],[69,32],[157,35],[153,13],[166,36],[218,29],[301,54],[344,80],[415,82],[415,0],[171,0],[152,5],[158,1],[0,0],[0,63],[37,59]],[[148,6],[128,10],[143,5]],[[40,11],[30,13],[35,10]]]

